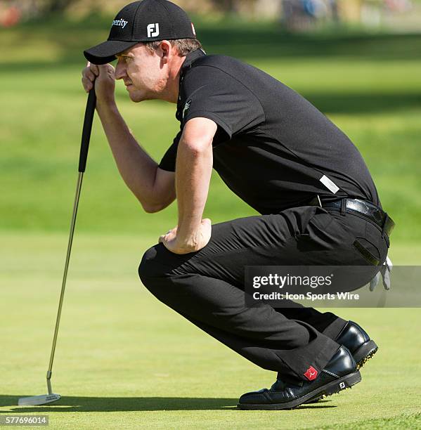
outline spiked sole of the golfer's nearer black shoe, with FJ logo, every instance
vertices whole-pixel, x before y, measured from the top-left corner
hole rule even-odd
[[[302,405],[303,403],[308,402],[309,400],[315,397],[327,397],[332,394],[339,393],[339,391],[346,390],[358,384],[361,381],[361,373],[359,370],[356,372],[347,374],[346,376],[335,379],[335,381],[329,382],[328,384],[319,386],[318,389],[307,393],[305,396],[300,398],[296,398],[289,402],[285,403],[271,403],[268,405],[254,405],[249,403],[238,403],[237,408],[243,410],[283,410],[283,409],[293,409],[297,408],[297,406]]]

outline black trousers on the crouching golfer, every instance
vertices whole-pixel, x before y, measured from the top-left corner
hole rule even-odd
[[[357,237],[386,259],[388,244],[374,223],[297,207],[216,224],[209,244],[192,254],[155,245],[143,255],[139,275],[157,299],[252,363],[279,378],[306,380],[310,366],[320,372],[335,354],[346,321],[306,307],[246,308],[245,266],[366,265],[353,246]]]

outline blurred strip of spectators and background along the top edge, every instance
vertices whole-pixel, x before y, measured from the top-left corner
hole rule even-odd
[[[122,0],[2,0],[1,22],[5,27],[65,13],[82,18],[92,13],[115,15]],[[179,0],[186,11],[219,19],[226,15],[248,20],[278,20],[292,31],[313,30],[327,25],[363,25],[372,29],[408,31],[420,25],[417,0]]]

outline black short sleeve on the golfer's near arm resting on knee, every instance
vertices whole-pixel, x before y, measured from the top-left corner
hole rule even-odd
[[[264,121],[263,107],[252,91],[217,67],[193,67],[184,79],[182,97],[186,100],[182,128],[190,119],[204,117],[231,139]],[[224,138],[224,133],[216,137]]]

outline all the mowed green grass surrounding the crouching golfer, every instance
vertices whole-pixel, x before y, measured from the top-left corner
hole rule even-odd
[[[53,369],[63,400],[17,406],[20,396],[46,393],[86,103],[81,53],[106,37],[107,27],[108,20],[53,20],[2,30],[1,414],[44,412],[58,429],[420,427],[417,309],[339,311],[380,345],[354,389],[292,411],[235,410],[240,394],[270,386],[274,374],[202,334],[142,287],[138,262],[175,226],[176,207],[143,213],[119,178],[98,119]],[[291,36],[266,23],[196,27],[209,53],[273,74],[352,138],[397,223],[391,258],[419,264],[421,36]],[[175,106],[134,105],[121,83],[117,98],[159,160],[178,129]],[[214,175],[205,215],[216,223],[250,214]]]

